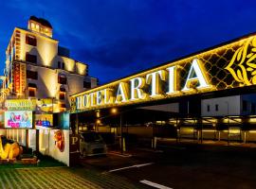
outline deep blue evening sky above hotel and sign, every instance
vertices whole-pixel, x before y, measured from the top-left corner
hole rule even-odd
[[[256,30],[255,0],[1,0],[0,60],[15,26],[44,16],[104,83]]]

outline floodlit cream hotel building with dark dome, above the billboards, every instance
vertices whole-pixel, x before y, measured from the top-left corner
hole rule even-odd
[[[6,50],[2,101],[9,98],[51,98],[54,112],[69,107],[69,95],[97,86],[88,65],[70,58],[69,49],[52,38],[52,26],[31,16],[27,29],[15,27]]]

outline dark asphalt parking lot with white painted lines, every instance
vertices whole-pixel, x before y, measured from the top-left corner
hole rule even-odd
[[[155,188],[256,188],[256,148],[192,143],[136,148],[120,156],[86,158],[82,164]]]

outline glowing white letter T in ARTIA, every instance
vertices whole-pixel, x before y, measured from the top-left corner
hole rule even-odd
[[[146,76],[146,83],[151,84],[151,97],[155,97],[160,94],[159,78],[161,78],[161,80],[165,80],[166,76],[164,70],[159,70]]]

